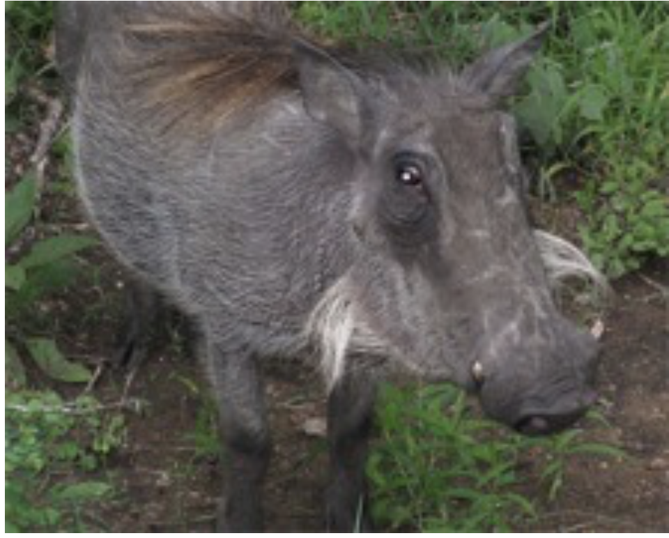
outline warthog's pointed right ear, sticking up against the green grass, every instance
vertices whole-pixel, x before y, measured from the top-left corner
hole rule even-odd
[[[513,95],[541,47],[548,27],[547,23],[541,24],[528,38],[484,54],[464,70],[464,79],[493,98]]]

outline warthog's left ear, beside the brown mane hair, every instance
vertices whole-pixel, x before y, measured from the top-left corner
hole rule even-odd
[[[350,141],[362,134],[362,86],[357,76],[327,52],[306,43],[294,47],[305,109]]]

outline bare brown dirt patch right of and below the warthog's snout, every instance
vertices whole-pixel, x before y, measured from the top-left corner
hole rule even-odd
[[[541,530],[669,531],[668,268],[658,263],[615,284],[603,337],[597,388],[609,426],[587,436],[622,447],[628,458],[573,459]]]

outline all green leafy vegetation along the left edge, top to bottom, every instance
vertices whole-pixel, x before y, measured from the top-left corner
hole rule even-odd
[[[29,87],[44,92],[50,61],[52,2],[7,2],[6,132],[36,121]],[[49,89],[50,91],[50,89]],[[56,168],[63,148],[52,149]],[[8,151],[8,155],[11,152]],[[89,367],[66,356],[45,305],[82,275],[78,256],[97,241],[59,231],[41,219],[48,188],[36,167],[6,162],[5,192],[5,525],[8,532],[100,529],[94,516],[114,495],[105,462],[123,443],[125,422],[92,395],[63,394],[89,383]],[[22,163],[25,164],[25,163]],[[62,165],[62,166],[61,166]],[[13,179],[15,170],[20,177]],[[27,171],[25,171],[27,170]],[[6,179],[7,182],[7,179]],[[49,191],[49,192],[47,192]],[[47,387],[58,387],[53,390]],[[79,390],[81,392],[81,390]]]

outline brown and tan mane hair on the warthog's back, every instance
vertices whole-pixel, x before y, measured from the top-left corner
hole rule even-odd
[[[157,3],[121,22],[130,98],[152,123],[201,130],[295,86],[299,34],[282,3]]]

